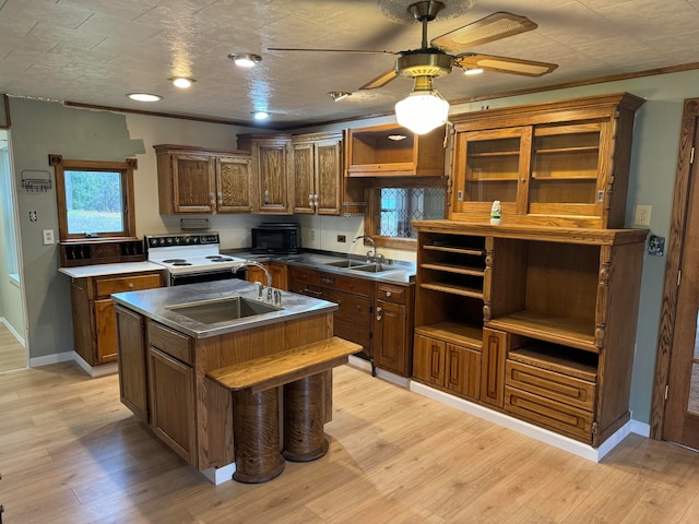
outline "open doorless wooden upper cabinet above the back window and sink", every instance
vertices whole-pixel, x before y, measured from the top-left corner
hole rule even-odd
[[[415,134],[399,124],[347,131],[348,177],[445,175],[445,128]]]

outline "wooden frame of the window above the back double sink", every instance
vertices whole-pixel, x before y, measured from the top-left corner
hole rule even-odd
[[[425,188],[443,188],[445,189],[445,210],[449,204],[449,191],[447,190],[447,179],[442,177],[390,177],[390,178],[372,178],[365,187],[365,199],[367,202],[367,212],[364,217],[364,234],[371,237],[377,246],[392,249],[404,249],[416,251],[417,240],[414,238],[398,238],[377,235],[376,216],[380,211],[381,202],[377,198],[377,189],[383,188],[401,188],[401,189],[425,189]],[[366,242],[365,242],[366,243]]]

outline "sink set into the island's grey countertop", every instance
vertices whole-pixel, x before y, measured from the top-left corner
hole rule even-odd
[[[199,302],[179,303],[167,309],[188,317],[202,324],[215,324],[238,320],[256,314],[281,311],[284,308],[244,297],[218,298]]]

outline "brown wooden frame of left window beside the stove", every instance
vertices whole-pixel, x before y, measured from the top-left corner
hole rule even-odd
[[[108,160],[75,160],[66,159],[61,155],[51,154],[48,157],[49,165],[56,172],[56,201],[58,204],[58,234],[60,240],[74,240],[83,238],[134,238],[135,213],[133,204],[133,171],[138,169],[135,158],[127,158],[125,162]],[[86,237],[85,233],[68,233],[68,209],[66,204],[66,171],[112,171],[121,174],[121,207],[125,213],[123,231],[109,231],[109,234],[96,234],[95,237]]]

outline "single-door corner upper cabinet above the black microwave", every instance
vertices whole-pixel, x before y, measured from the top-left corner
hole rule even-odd
[[[252,154],[253,213],[292,213],[289,144],[291,136],[286,134],[238,135],[238,147]]]

